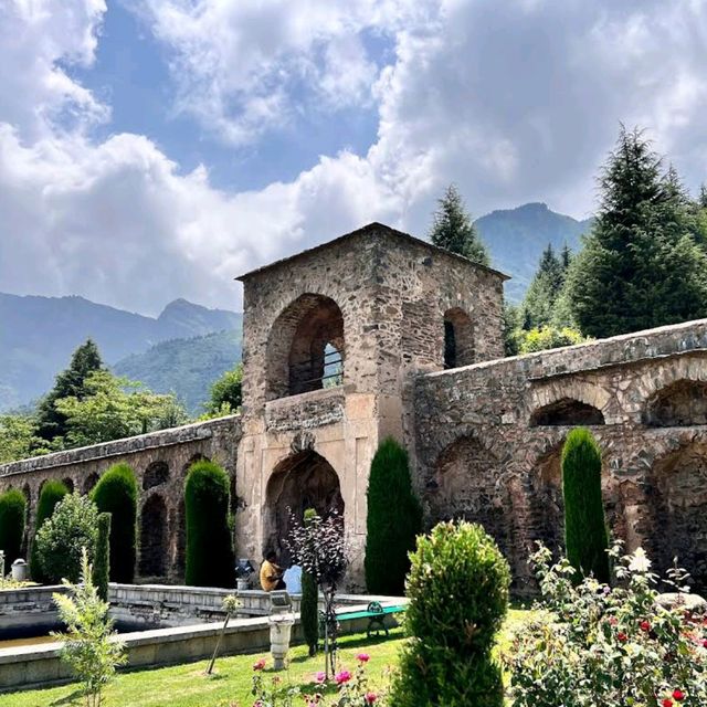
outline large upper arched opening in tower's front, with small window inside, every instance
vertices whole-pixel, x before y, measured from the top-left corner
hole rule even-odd
[[[345,359],[344,315],[336,302],[316,294],[297,297],[268,335],[268,400],[342,382]]]

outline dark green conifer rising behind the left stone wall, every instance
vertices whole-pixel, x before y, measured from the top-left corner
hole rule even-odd
[[[56,410],[54,403],[62,398],[83,399],[86,394],[86,378],[98,370],[104,370],[98,347],[92,339],[87,339],[74,351],[68,368],[56,377],[54,388],[38,405],[38,436],[51,442],[66,434],[66,415]]]

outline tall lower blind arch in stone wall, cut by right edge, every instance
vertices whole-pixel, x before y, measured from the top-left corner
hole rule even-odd
[[[695,442],[667,454],[651,471],[648,485],[648,552],[664,574],[677,558],[707,589],[707,442]]]

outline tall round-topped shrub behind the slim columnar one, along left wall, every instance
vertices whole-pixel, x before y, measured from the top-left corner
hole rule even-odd
[[[110,518],[110,581],[131,584],[137,555],[137,482],[127,464],[112,466],[91,493],[98,513]]]

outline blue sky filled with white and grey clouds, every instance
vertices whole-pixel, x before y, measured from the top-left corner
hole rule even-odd
[[[0,291],[155,314],[372,220],[707,176],[704,0],[0,0]]]

